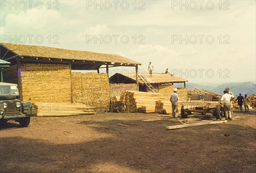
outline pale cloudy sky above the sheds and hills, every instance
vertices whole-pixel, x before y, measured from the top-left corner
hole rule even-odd
[[[191,83],[256,82],[255,0],[1,0],[0,35],[122,55],[142,63],[139,74],[151,61],[153,73],[168,68]]]

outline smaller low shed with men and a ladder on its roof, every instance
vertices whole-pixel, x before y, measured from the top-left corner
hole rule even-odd
[[[141,78],[143,77],[143,78]],[[181,101],[187,100],[187,90],[186,90],[186,79],[179,78],[175,75],[169,75],[164,73],[153,73],[152,77],[149,77],[149,74],[140,74],[139,75],[139,89],[137,90],[135,87],[132,88],[132,85],[136,84],[136,74],[128,73],[128,74],[120,74],[116,73],[111,78],[109,78],[109,82],[111,85],[115,85],[120,87],[120,93],[112,92],[111,95],[121,95],[122,90],[133,90],[133,91],[142,91],[142,92],[151,92],[151,89],[145,84],[149,83],[151,86],[156,89],[156,91],[162,94],[167,100],[169,100],[170,95],[173,93],[174,84],[175,83],[183,83],[184,87],[178,88],[178,94]]]

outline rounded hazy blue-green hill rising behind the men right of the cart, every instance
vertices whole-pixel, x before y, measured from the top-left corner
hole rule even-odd
[[[239,93],[242,95],[254,95],[256,93],[256,84],[252,82],[221,84],[213,88],[212,91],[222,95],[226,87],[230,88],[233,95],[239,95]]]

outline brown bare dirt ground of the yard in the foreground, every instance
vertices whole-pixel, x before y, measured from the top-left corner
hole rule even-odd
[[[166,126],[180,125],[176,118],[158,115],[32,117],[25,128],[8,121],[0,130],[0,172],[256,172],[255,111],[235,111],[239,118],[225,124],[175,130]],[[141,122],[151,118],[161,120]],[[215,118],[190,115],[187,120],[189,124]]]

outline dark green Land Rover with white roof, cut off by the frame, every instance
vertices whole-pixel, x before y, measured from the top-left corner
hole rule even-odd
[[[17,84],[0,82],[0,122],[15,120],[21,127],[27,127],[34,116],[30,102],[20,101]]]

